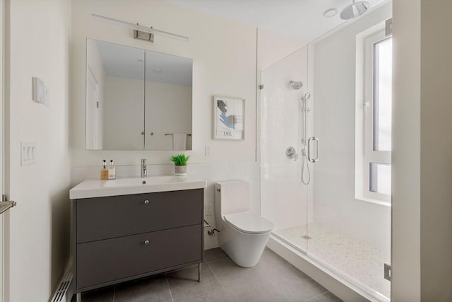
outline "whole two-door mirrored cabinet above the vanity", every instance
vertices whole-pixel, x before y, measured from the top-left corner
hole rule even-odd
[[[193,60],[87,39],[87,150],[191,150]]]

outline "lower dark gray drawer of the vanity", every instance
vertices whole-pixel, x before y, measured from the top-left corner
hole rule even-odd
[[[77,245],[77,289],[202,260],[202,224]],[[148,243],[146,240],[148,240]]]

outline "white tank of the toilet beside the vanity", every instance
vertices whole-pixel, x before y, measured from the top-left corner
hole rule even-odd
[[[220,216],[249,210],[249,182],[230,180],[215,183],[215,211]]]

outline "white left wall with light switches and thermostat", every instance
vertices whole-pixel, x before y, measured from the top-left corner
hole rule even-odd
[[[69,1],[7,1],[6,301],[49,301],[69,257]],[[50,106],[32,101],[32,76]],[[35,141],[37,162],[20,166],[20,141]]]

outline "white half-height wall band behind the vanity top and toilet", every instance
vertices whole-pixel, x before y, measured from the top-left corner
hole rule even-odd
[[[136,177],[140,175],[140,165],[117,165],[117,177]],[[100,166],[72,167],[71,183],[77,185],[83,180],[99,179]],[[250,182],[251,210],[260,212],[259,202],[259,165],[258,163],[193,163],[189,164],[188,173],[205,178],[207,188],[204,194],[204,204],[215,204],[215,182],[223,180],[246,180]],[[174,165],[148,165],[148,175],[172,175]],[[215,226],[215,216],[205,217],[210,225]],[[208,236],[204,232],[204,248],[218,247],[217,237]]]

